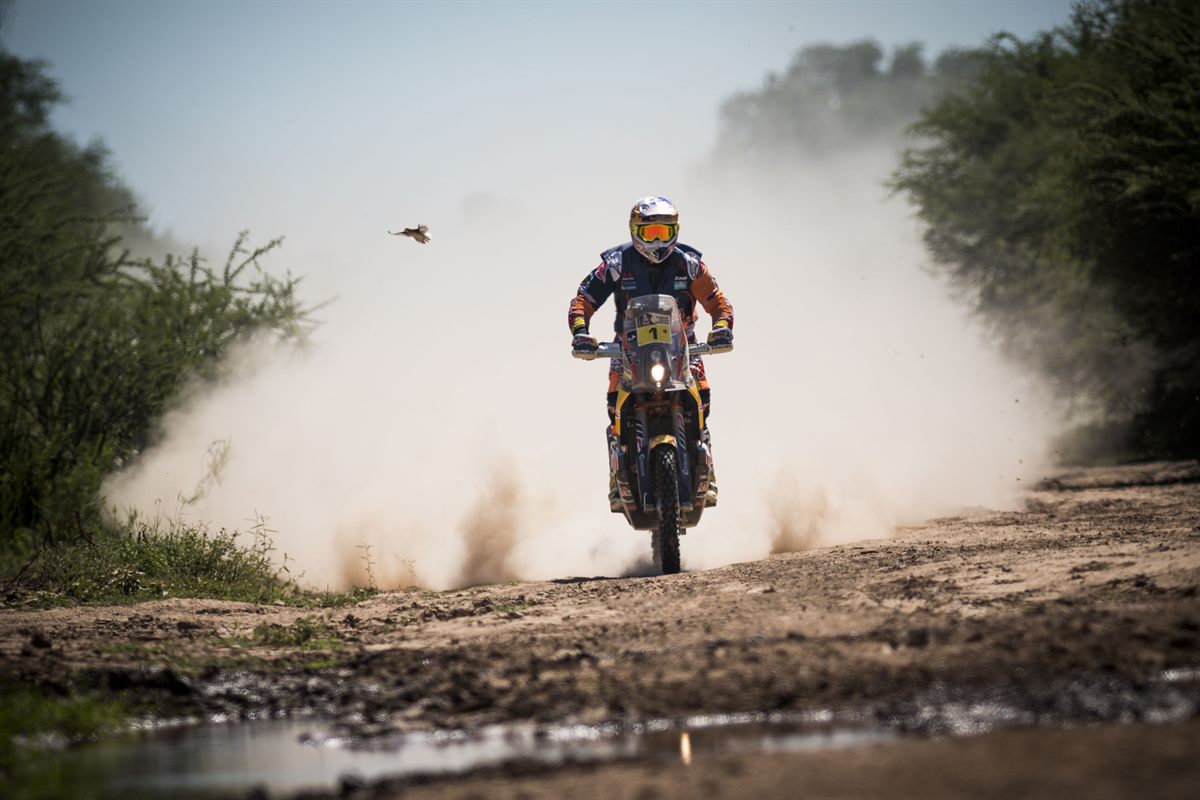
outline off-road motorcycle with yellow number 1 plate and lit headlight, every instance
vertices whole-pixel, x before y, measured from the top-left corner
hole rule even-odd
[[[608,468],[620,511],[635,530],[652,531],[654,564],[665,575],[679,571],[679,536],[700,523],[713,474],[691,357],[732,349],[689,343],[674,297],[644,295],[630,300],[616,342],[572,350],[588,361],[620,359]]]

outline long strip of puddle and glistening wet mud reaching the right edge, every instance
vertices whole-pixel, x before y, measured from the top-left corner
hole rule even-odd
[[[1020,698],[1020,699],[1019,699]],[[1015,703],[1014,703],[1015,700]],[[856,710],[691,715],[599,724],[506,723],[473,730],[371,733],[325,720],[252,720],[146,730],[62,752],[52,769],[78,798],[223,798],[265,792],[335,796],[353,787],[512,765],[607,762],[691,765],[727,756],[832,751],[901,736],[970,736],[1000,728],[1165,723],[1200,710],[1200,668],[1138,685],[1075,679],[1037,696],[931,687]]]

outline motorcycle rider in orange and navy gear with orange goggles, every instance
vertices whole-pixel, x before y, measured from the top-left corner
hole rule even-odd
[[[590,351],[598,347],[596,338],[588,331],[592,314],[610,295],[617,303],[613,329],[619,335],[630,299],[649,294],[667,294],[674,297],[686,326],[688,341],[696,342],[695,325],[698,317],[696,306],[703,306],[713,319],[708,333],[712,345],[733,343],[733,306],[718,288],[716,279],[701,260],[698,249],[679,241],[679,212],[664,197],[644,197],[629,212],[630,241],[611,247],[600,254],[600,265],[588,272],[571,300],[566,321],[571,329],[571,349]],[[710,390],[704,374],[704,362],[700,356],[691,359],[691,371],[700,389],[704,411],[704,431],[708,440],[708,415]],[[608,422],[616,421],[617,384],[620,380],[620,363],[613,361],[608,371]],[[617,476],[608,476],[608,505],[620,511]],[[706,505],[716,505],[716,475],[709,479]]]

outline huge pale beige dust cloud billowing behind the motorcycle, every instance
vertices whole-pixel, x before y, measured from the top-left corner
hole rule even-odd
[[[570,357],[565,320],[644,194],[676,201],[737,313],[737,349],[708,360],[721,501],[685,569],[1012,507],[1043,474],[1050,405],[923,271],[917,223],[882,187],[894,154],[656,178],[510,156],[522,181],[404,221],[427,246],[383,215],[350,228],[332,272],[286,246],[293,271],[336,275],[312,342],[247,343],[109,503],[265,521],[318,588],[636,572],[648,534],[607,510],[606,365]],[[593,331],[611,325],[610,303]],[[214,443],[218,480],[196,492]]]

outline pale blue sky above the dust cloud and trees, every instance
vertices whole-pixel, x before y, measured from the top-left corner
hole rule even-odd
[[[1068,13],[1066,0],[38,0],[18,1],[0,37],[52,62],[71,98],[56,122],[108,143],[154,224],[226,242],[337,217],[378,228],[497,187],[545,192],[588,164],[626,164],[605,170],[619,182],[648,151],[674,174],[712,146],[720,101],[804,44],[871,36],[936,54]]]

